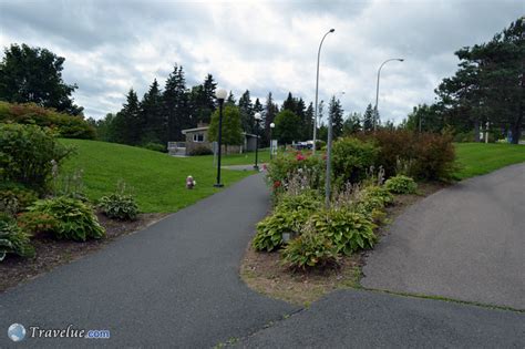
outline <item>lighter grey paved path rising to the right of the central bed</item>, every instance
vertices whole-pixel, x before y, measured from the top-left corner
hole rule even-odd
[[[525,309],[525,164],[437,192],[389,232],[364,287]]]

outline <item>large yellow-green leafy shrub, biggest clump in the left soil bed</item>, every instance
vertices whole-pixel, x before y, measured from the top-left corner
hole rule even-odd
[[[104,228],[99,224],[93,209],[75,198],[60,196],[41,199],[30,207],[30,212],[45,214],[56,219],[58,227],[52,233],[59,239],[85,242],[89,238],[105,236]]]

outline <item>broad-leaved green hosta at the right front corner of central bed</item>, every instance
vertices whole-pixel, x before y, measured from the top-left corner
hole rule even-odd
[[[337,252],[347,256],[352,253],[371,248],[377,240],[373,228],[375,225],[360,213],[349,209],[329,209],[313,215],[311,224],[316,233],[329,238]]]

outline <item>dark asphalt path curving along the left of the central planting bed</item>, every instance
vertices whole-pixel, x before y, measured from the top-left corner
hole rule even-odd
[[[261,175],[137,234],[0,295],[7,328],[110,329],[110,340],[27,339],[41,346],[206,348],[244,337],[296,307],[248,289],[238,276],[255,223],[269,208]]]

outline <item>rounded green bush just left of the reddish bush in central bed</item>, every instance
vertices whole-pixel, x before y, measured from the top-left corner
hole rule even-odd
[[[333,143],[333,176],[341,183],[358,183],[377,161],[378,148],[358,138],[340,138]]]

